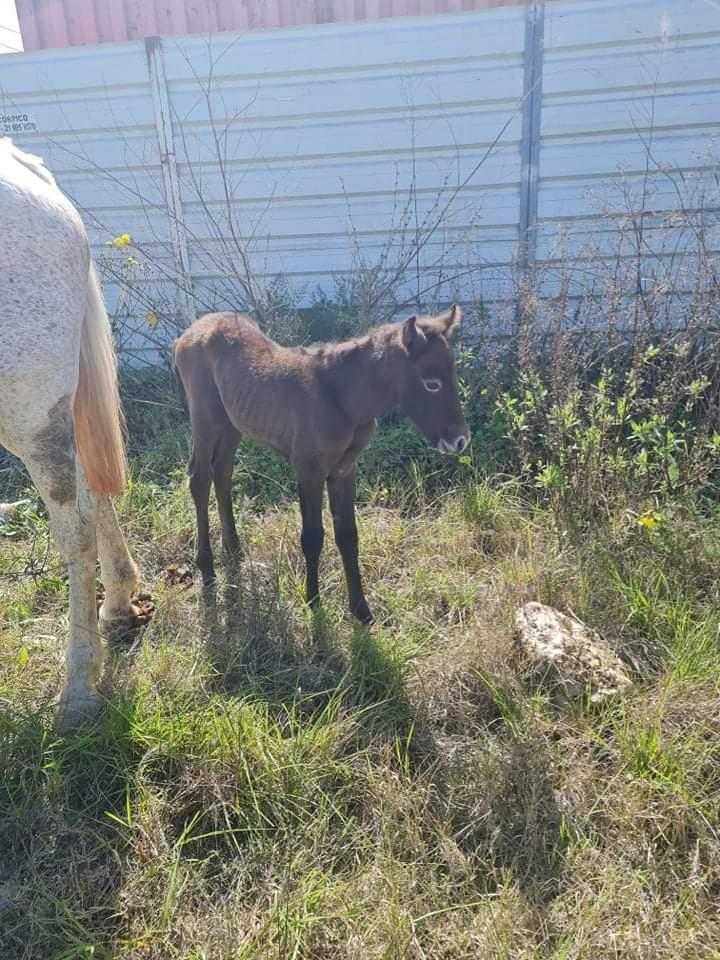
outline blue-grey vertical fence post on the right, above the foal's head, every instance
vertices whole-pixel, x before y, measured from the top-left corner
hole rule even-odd
[[[540,180],[542,78],[545,45],[544,0],[529,3],[525,12],[525,69],[523,78],[522,139],[520,141],[520,251],[521,276],[535,263]]]

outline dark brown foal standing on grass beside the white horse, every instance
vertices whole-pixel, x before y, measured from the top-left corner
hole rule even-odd
[[[212,313],[175,343],[175,365],[192,422],[190,491],[197,512],[197,565],[214,578],[208,498],[215,484],[223,548],[238,552],[232,471],[241,434],[273,447],[295,467],[302,512],[306,595],[318,602],[327,483],[350,609],[372,614],[363,593],[355,524],[355,465],[375,418],[398,408],[442,453],[461,453],[468,428],[458,398],[448,338],[462,313],[410,317],[363,337],[321,346],[283,347],[249,317]]]

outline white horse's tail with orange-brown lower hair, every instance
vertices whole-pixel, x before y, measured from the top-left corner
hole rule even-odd
[[[127,478],[125,423],[110,324],[92,263],[73,415],[78,459],[90,489],[106,496],[120,493]]]

